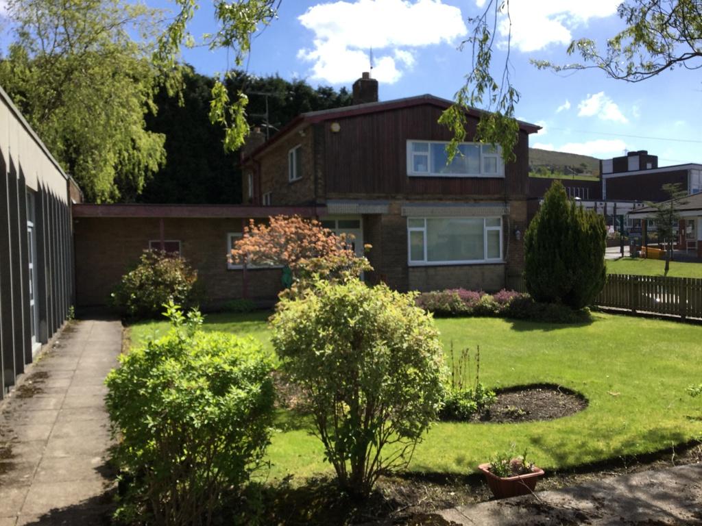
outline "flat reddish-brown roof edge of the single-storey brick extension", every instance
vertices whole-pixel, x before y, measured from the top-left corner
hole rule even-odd
[[[199,217],[199,218],[244,218],[269,217],[271,215],[300,215],[314,217],[324,215],[324,206],[251,206],[251,205],[148,205],[74,204],[73,217]]]

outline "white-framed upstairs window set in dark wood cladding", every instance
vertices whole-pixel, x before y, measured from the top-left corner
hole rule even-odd
[[[407,141],[407,175],[413,177],[505,177],[501,147],[481,142],[458,144],[450,164],[447,142]]]

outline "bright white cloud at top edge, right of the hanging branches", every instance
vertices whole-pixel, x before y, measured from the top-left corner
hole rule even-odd
[[[477,0],[478,7],[484,0]],[[536,51],[550,43],[567,45],[573,39],[571,31],[590,20],[616,14],[621,0],[511,0],[511,45],[520,51]],[[510,20],[499,23],[501,36],[510,30]]]

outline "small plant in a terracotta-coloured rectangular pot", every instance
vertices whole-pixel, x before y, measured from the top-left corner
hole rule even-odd
[[[536,488],[538,479],[543,477],[543,469],[527,459],[527,450],[515,456],[514,447],[508,452],[496,454],[491,461],[480,464],[478,469],[497,499],[529,494]]]

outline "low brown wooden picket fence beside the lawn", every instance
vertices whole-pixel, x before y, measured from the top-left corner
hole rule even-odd
[[[508,288],[527,292],[521,276],[508,278]],[[608,274],[607,283],[595,299],[595,305],[681,318],[702,318],[702,279]]]

